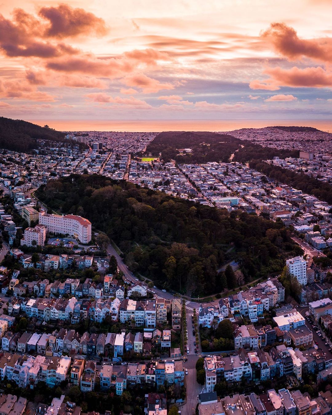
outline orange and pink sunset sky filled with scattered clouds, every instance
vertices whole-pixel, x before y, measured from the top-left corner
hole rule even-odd
[[[0,0],[0,114],[328,119],[329,0]]]

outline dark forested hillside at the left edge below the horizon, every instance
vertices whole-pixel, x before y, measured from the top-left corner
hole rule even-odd
[[[23,120],[0,117],[0,148],[27,152],[36,147],[35,139],[63,141],[64,133]]]

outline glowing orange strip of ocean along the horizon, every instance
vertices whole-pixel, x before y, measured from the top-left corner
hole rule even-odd
[[[332,120],[27,120],[59,131],[232,131],[273,125],[315,127],[332,132]]]

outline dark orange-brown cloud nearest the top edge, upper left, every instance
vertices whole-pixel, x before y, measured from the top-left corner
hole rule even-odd
[[[39,16],[49,21],[44,33],[48,37],[75,37],[90,33],[102,36],[107,33],[103,19],[81,8],[74,9],[63,3],[58,7],[41,7]]]

